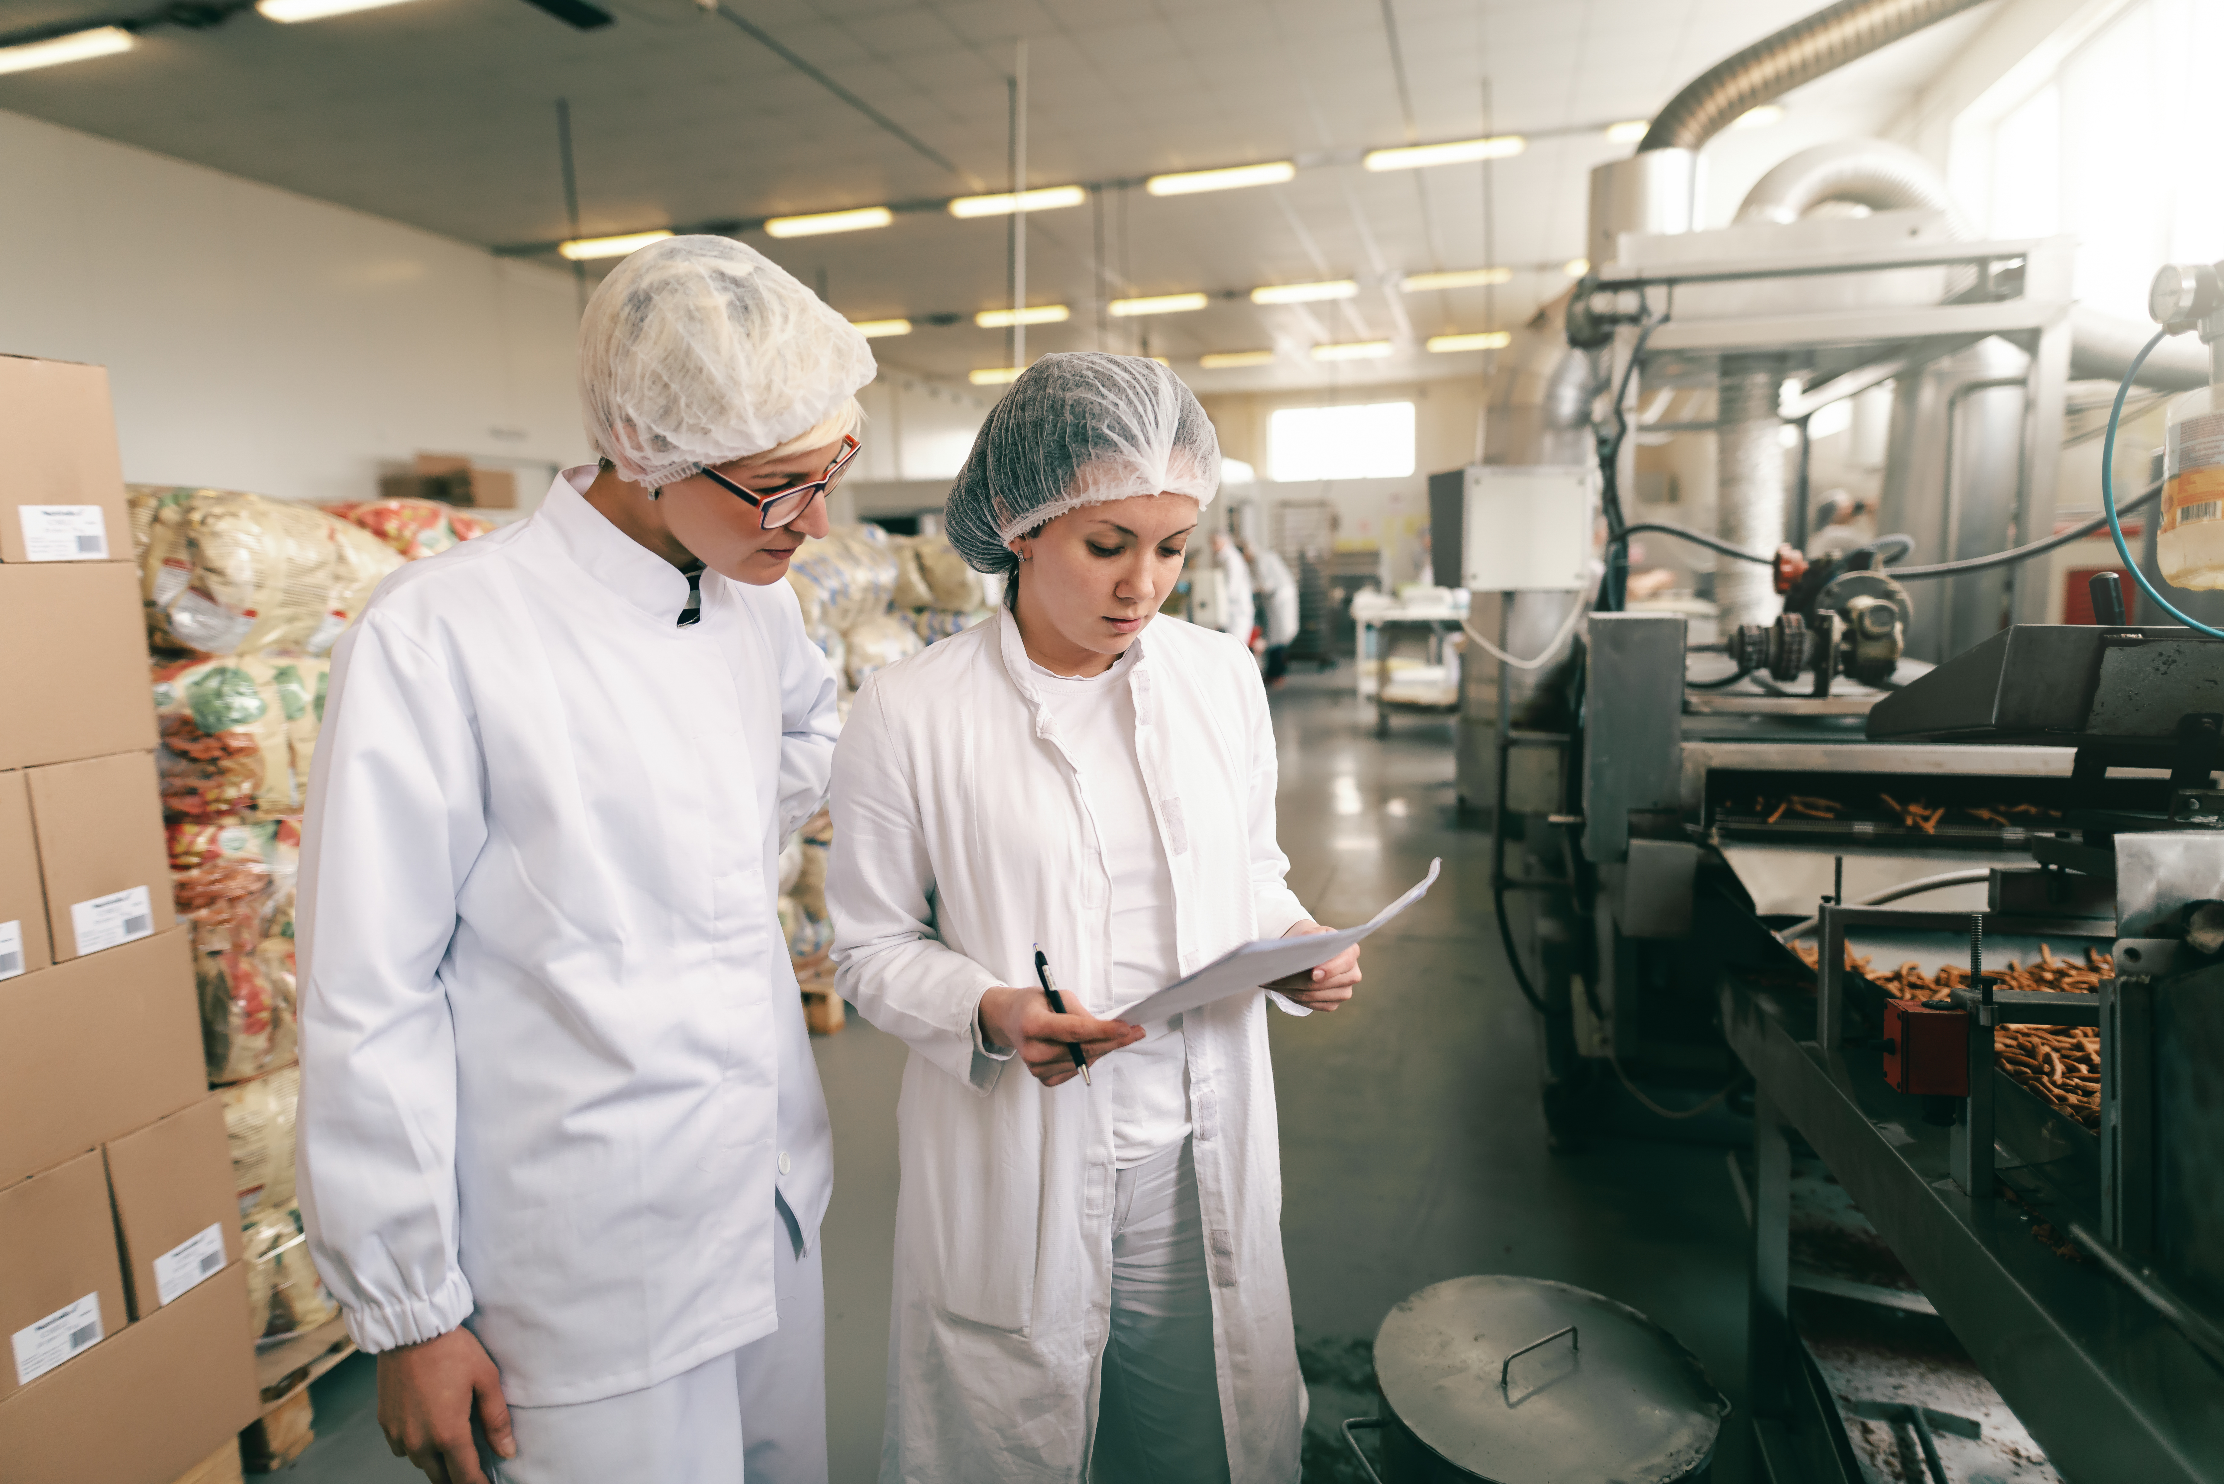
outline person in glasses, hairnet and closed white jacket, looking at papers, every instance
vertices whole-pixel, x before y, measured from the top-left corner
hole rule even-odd
[[[774,901],[836,690],[781,578],[872,374],[756,251],[641,249],[580,323],[600,467],[334,654],[300,1197],[434,1480],[827,1477],[832,1148]]]

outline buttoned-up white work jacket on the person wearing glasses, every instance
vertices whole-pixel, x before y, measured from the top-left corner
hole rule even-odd
[[[300,870],[300,1197],[365,1351],[469,1317],[520,1406],[778,1328],[825,1097],[774,914],[834,676],[785,583],[687,578],[567,469],[336,652]]]

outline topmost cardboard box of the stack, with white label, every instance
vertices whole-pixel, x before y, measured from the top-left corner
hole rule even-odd
[[[131,561],[109,372],[0,356],[0,561]]]

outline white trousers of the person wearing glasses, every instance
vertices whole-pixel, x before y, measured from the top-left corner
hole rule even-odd
[[[787,1201],[778,1213],[778,1330],[643,1391],[512,1406],[500,1484],[827,1484],[825,1273]]]

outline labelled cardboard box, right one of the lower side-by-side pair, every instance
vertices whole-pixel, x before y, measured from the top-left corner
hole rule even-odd
[[[102,1148],[125,1297],[145,1319],[240,1259],[225,1108],[211,1095]]]

